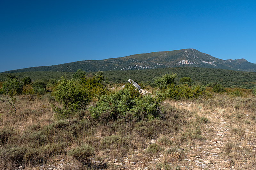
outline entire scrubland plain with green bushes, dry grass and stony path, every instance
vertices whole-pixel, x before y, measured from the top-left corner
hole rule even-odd
[[[191,82],[165,74],[140,94],[101,71],[48,82],[10,74],[0,83],[0,169],[255,168],[256,90]]]

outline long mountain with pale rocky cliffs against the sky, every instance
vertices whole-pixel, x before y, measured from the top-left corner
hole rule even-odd
[[[200,51],[193,48],[135,54],[104,60],[84,60],[53,66],[30,67],[6,72],[76,72],[78,69],[84,70],[86,72],[92,72],[98,70],[142,70],[165,67],[204,67],[256,72],[256,64],[250,63],[245,59],[222,60],[209,54],[201,53]]]

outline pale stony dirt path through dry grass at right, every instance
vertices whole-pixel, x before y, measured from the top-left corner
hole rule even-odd
[[[197,109],[197,106],[191,106],[192,103],[176,104],[180,108],[187,110]],[[246,161],[236,161],[229,159],[225,147],[226,144],[235,142],[236,147],[242,148],[246,143],[252,150],[255,150],[255,144],[247,143],[242,139],[238,139],[236,135],[231,134],[230,131],[239,126],[235,122],[231,122],[229,119],[223,116],[222,113],[206,112],[204,108],[197,113],[206,117],[209,122],[205,124],[205,129],[202,135],[208,140],[202,143],[195,144],[190,147],[190,152],[187,153],[191,159],[188,159],[189,169],[256,169],[256,166],[246,166]],[[207,114],[204,114],[207,113]],[[246,133],[250,132],[250,126],[246,128]],[[253,146],[253,147],[252,147]],[[240,152],[239,150],[237,152]],[[243,159],[243,158],[241,158]],[[186,168],[185,168],[186,169]]]

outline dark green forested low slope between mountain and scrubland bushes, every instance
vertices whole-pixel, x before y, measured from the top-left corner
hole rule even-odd
[[[94,74],[95,72],[87,72],[86,74]],[[255,72],[243,72],[234,70],[222,70],[211,68],[190,68],[190,67],[175,67],[175,68],[159,68],[148,70],[116,70],[103,72],[110,83],[126,83],[128,79],[132,79],[138,83],[152,85],[154,79],[161,77],[166,73],[176,73],[176,81],[182,77],[190,77],[193,84],[208,85],[222,84],[225,87],[240,87],[252,88],[256,85]],[[9,73],[0,73],[0,81],[4,81]],[[20,79],[28,76],[32,81],[36,79],[48,81],[49,79],[59,80],[62,75],[67,78],[72,78],[72,72],[17,72],[13,73]]]

